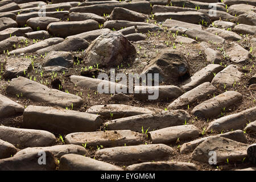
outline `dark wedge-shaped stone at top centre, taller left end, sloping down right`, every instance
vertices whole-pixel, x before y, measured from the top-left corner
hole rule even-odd
[[[131,22],[144,22],[147,15],[131,11],[122,7],[115,7],[109,16],[110,20],[127,20]]]

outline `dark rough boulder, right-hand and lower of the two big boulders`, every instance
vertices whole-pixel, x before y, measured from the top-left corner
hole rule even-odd
[[[188,60],[183,52],[164,49],[143,69],[142,74],[159,73],[159,82],[169,82],[189,74]]]

